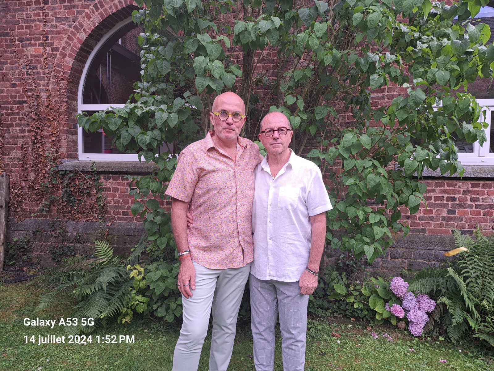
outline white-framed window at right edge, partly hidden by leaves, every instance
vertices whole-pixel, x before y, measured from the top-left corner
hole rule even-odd
[[[478,141],[467,143],[455,141],[458,147],[458,160],[462,165],[494,165],[494,98],[477,99],[482,107],[480,122],[487,122],[485,129],[487,140],[481,146]]]

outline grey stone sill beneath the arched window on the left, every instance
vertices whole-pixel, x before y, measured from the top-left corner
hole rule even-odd
[[[96,170],[100,173],[120,173],[120,174],[150,174],[153,171],[154,163],[146,164],[138,161],[78,161],[64,159],[58,165],[58,170],[71,171],[91,171],[91,164],[94,163]]]

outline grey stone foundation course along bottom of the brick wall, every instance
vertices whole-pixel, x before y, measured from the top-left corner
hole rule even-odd
[[[66,222],[54,219],[26,219],[8,221],[7,241],[14,237],[28,235],[32,238],[32,252],[35,261],[42,265],[52,265],[52,249],[58,244],[70,245],[76,253],[90,253],[94,240],[105,238],[114,246],[117,255],[130,254],[131,248],[138,244],[145,233],[141,223],[133,222]],[[67,239],[57,233],[66,231]],[[398,238],[386,251],[386,255],[377,258],[369,270],[380,276],[400,274],[402,270],[418,270],[428,265],[434,266],[446,261],[444,252],[455,248],[452,235],[409,234],[405,239]],[[331,251],[333,258],[327,264],[334,265],[339,250]]]

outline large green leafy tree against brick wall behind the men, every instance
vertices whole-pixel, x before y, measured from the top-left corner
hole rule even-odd
[[[174,247],[156,201],[176,165],[169,155],[204,137],[218,93],[243,97],[250,139],[267,111],[288,116],[292,148],[311,149],[332,182],[328,240],[369,262],[393,232],[409,232],[401,212],[424,201],[423,170],[461,175],[455,140],[486,140],[480,107],[464,91],[493,73],[489,26],[465,22],[487,0],[136,2],[145,6],[133,13],[145,30],[142,79],[124,108],[80,115],[79,125],[102,127],[121,151],[156,163],[134,179],[132,213],[163,251]],[[268,55],[277,63],[266,67]],[[373,101],[384,87],[396,97]],[[169,150],[158,155],[162,142]]]

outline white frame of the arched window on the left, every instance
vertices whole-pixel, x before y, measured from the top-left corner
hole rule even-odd
[[[132,17],[124,19],[123,21],[117,23],[110,31],[108,31],[94,47],[87,58],[87,61],[82,69],[81,82],[79,83],[79,90],[77,94],[77,113],[87,112],[87,111],[104,111],[106,109],[111,109],[111,107],[124,107],[125,104],[82,104],[82,93],[84,92],[84,84],[86,81],[87,73],[93,59],[96,57],[98,52],[101,50],[106,41],[119,32],[122,28],[132,23]],[[84,153],[84,142],[83,142],[83,132],[82,127],[78,128],[77,131],[77,142],[78,142],[78,152],[80,161],[139,161],[137,158],[137,153]]]

